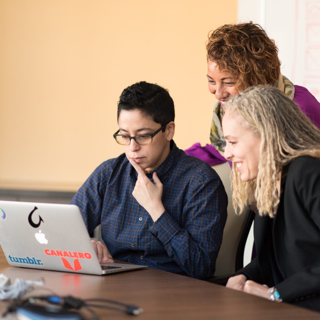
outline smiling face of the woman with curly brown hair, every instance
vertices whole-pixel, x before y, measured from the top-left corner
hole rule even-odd
[[[220,100],[222,107],[224,104],[239,91],[236,89],[236,79],[228,72],[220,72],[217,64],[208,60],[208,85],[209,91]]]

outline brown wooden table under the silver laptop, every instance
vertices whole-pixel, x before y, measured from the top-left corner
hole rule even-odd
[[[287,303],[276,303],[223,286],[151,268],[91,276],[67,272],[10,267],[0,247],[0,273],[25,280],[42,276],[45,286],[60,295],[105,298],[143,308],[143,313],[95,309],[100,319],[320,319],[320,313]],[[47,292],[41,291],[43,294]],[[40,294],[33,292],[31,295]],[[5,302],[0,302],[0,312]]]

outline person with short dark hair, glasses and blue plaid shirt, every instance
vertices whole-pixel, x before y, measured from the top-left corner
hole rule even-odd
[[[114,259],[195,278],[212,276],[227,219],[228,198],[218,174],[177,148],[174,104],[157,84],[139,82],[122,92],[119,130],[124,153],[98,166],[71,203],[100,261]]]

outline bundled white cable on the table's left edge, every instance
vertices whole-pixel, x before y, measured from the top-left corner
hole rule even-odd
[[[4,274],[0,275],[2,285],[0,286],[0,300],[21,298],[25,293],[34,289],[36,285],[43,285],[44,280],[23,280],[17,278],[14,284],[10,284],[10,279]]]

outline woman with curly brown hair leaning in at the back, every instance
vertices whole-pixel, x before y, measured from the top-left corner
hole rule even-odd
[[[225,147],[221,129],[223,106],[250,86],[275,86],[320,128],[319,102],[306,88],[293,85],[281,74],[275,41],[258,24],[228,24],[212,31],[207,41],[207,60],[209,91],[217,98],[210,140],[222,155]]]

